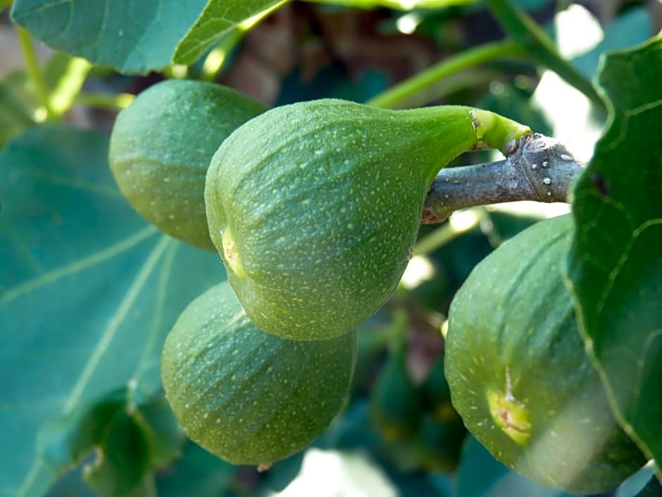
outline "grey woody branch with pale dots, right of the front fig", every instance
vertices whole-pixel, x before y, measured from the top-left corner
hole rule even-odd
[[[567,202],[570,185],[583,167],[558,140],[524,135],[503,161],[439,171],[427,192],[421,224],[441,223],[458,209],[479,205]]]

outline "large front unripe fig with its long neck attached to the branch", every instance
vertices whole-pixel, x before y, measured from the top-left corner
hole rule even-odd
[[[214,155],[211,239],[246,314],[297,340],[342,335],[392,295],[439,168],[528,131],[487,111],[323,99],[278,107]]]

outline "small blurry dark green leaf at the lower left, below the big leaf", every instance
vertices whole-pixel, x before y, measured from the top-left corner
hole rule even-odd
[[[110,496],[132,491],[151,470],[179,458],[185,438],[161,393],[139,405],[135,397],[120,388],[49,422],[39,431],[39,457],[59,478],[94,448],[87,483]]]

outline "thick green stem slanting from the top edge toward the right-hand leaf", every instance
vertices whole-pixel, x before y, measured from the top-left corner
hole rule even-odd
[[[599,109],[605,109],[604,102],[591,82],[566,59],[563,59],[556,50],[554,41],[537,25],[535,20],[513,6],[511,0],[486,0],[486,3],[494,18],[515,42],[535,57],[539,63],[553,70],[569,85],[585,94]]]

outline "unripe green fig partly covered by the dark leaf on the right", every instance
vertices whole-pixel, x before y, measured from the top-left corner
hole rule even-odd
[[[451,303],[446,378],[466,427],[508,467],[571,493],[616,488],[645,458],[585,352],[562,264],[570,216],[478,264]]]

